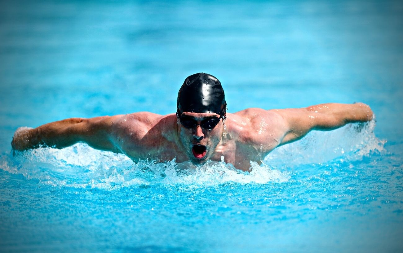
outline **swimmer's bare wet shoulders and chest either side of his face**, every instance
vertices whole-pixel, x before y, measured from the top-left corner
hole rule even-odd
[[[210,160],[220,161],[236,168],[249,170],[250,161],[258,162],[278,146],[284,130],[278,128],[278,115],[259,113],[251,108],[227,114],[222,138]],[[264,116],[262,116],[264,115]],[[139,112],[122,115],[114,120],[114,141],[121,153],[132,160],[150,159],[165,162],[176,158],[177,162],[189,158],[179,144],[175,114],[159,115]]]

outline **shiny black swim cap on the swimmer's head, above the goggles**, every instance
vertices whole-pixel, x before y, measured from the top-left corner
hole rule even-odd
[[[182,112],[214,112],[225,118],[226,102],[220,81],[206,73],[187,77],[178,92],[177,116]]]

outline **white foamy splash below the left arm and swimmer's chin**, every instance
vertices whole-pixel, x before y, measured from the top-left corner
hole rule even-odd
[[[200,187],[224,183],[286,182],[290,176],[275,168],[251,162],[253,170],[243,172],[232,164],[208,161],[202,166],[140,160],[132,162],[122,154],[92,149],[77,143],[64,149],[41,148],[15,155],[5,154],[0,168],[22,174],[27,180],[54,187],[97,188],[116,190],[123,187],[151,187],[158,184]]]

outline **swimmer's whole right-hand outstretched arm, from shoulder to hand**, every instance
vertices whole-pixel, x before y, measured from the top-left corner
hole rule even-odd
[[[282,116],[287,133],[280,145],[304,137],[311,130],[332,130],[352,122],[372,120],[371,108],[363,103],[319,104],[299,109],[271,110]]]

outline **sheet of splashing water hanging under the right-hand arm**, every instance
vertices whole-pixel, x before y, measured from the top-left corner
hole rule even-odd
[[[332,131],[311,131],[303,139],[275,149],[264,159],[271,166],[319,164],[339,158],[357,161],[372,153],[385,152],[386,140],[375,136],[375,119],[351,123]]]

